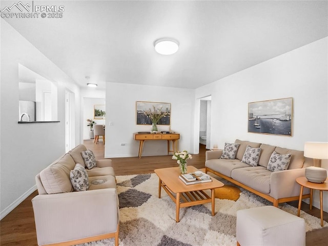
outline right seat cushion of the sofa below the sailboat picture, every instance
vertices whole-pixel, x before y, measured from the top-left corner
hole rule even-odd
[[[271,173],[263,166],[248,166],[234,169],[231,177],[256,191],[269,194]]]

